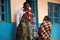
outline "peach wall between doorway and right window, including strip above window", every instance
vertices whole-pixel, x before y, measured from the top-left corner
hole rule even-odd
[[[60,4],[60,0],[38,0],[38,21],[41,23],[45,15],[48,15],[48,2]]]

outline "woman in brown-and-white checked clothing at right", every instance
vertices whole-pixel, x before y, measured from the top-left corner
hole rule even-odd
[[[38,31],[39,40],[50,40],[51,22],[48,16],[45,16]]]

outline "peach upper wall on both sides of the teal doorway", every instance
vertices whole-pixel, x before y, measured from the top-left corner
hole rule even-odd
[[[16,22],[17,11],[23,6],[26,0],[11,0],[11,18],[12,22]],[[42,22],[45,15],[48,15],[48,2],[60,4],[60,0],[38,0],[38,21]],[[42,15],[43,14],[43,15]]]

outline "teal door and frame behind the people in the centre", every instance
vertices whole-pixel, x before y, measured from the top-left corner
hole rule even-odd
[[[32,8],[32,13],[33,13],[33,22],[35,22],[35,26],[38,27],[38,10],[37,10],[37,0],[26,0],[31,8]]]

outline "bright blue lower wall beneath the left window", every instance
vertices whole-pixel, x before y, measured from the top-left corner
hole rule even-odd
[[[15,23],[0,23],[0,40],[15,40]]]

